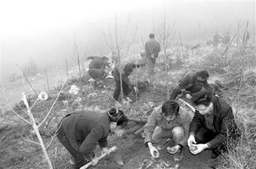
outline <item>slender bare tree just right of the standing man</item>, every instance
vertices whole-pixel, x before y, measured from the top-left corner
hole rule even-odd
[[[169,98],[169,76],[168,71],[170,69],[170,60],[169,55],[167,54],[167,48],[170,47],[170,43],[173,41],[174,36],[176,35],[176,31],[174,31],[174,27],[176,25],[176,19],[173,24],[167,23],[166,19],[166,10],[164,11],[164,18],[162,23],[159,24],[159,27],[155,28],[154,33],[156,34],[156,38],[162,46],[163,49],[163,57],[165,60],[165,72],[166,72],[166,86],[167,86],[167,99]],[[153,23],[154,25],[154,23]]]

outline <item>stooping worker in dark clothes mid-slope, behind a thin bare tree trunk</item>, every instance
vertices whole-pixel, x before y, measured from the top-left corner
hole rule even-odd
[[[132,74],[133,68],[139,67],[139,65],[135,65],[134,63],[127,63],[127,64],[121,64],[121,80],[122,80],[122,87],[124,95],[129,95],[129,86],[133,87],[135,92],[138,92],[138,88],[135,87],[135,84],[133,84],[129,80],[129,75]],[[113,68],[113,76],[116,82],[116,88],[113,94],[113,98],[118,101],[118,97],[120,95],[121,91],[121,82],[120,82],[120,65],[119,63]]]

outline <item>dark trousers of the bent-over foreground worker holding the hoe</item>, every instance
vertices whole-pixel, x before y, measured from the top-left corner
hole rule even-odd
[[[59,127],[57,138],[59,142],[61,142],[61,144],[67,149],[67,151],[69,151],[69,153],[74,158],[75,169],[79,169],[80,167],[88,163],[83,154],[74,149],[73,146],[70,144],[69,139],[67,138],[67,135],[64,132],[64,127],[62,125]]]

